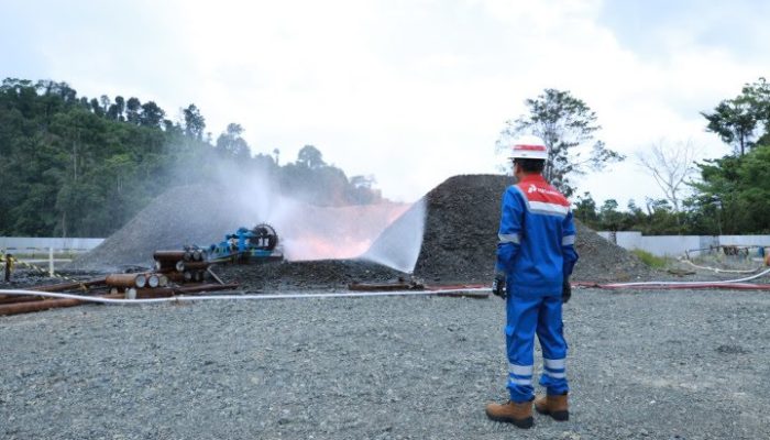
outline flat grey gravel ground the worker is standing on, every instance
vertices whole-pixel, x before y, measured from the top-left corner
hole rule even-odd
[[[493,422],[503,301],[84,306],[0,317],[4,439],[767,439],[770,296],[576,290],[571,420]]]

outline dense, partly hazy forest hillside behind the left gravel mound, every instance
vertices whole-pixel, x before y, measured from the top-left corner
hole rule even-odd
[[[215,141],[195,105],[182,116],[136,97],[79,97],[65,82],[3,80],[0,235],[107,237],[170,187],[217,183],[223,166],[315,205],[381,199],[372,176],[348,178],[312,145],[280,165],[277,148],[252,155],[240,124]]]

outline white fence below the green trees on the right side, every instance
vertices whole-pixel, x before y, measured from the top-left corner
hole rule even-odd
[[[618,246],[628,250],[640,249],[658,256],[680,256],[690,252],[690,256],[697,256],[696,250],[714,246],[765,246],[770,248],[770,235],[642,235],[636,231],[598,232],[603,238],[613,241]]]

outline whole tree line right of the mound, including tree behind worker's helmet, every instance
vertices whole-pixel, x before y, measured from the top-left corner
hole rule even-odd
[[[601,129],[596,114],[569,91],[546,89],[525,103],[528,113],[506,123],[497,150],[516,135],[539,135],[550,148],[547,177],[566,195],[578,193],[570,177],[626,158],[594,139]],[[697,162],[689,142],[653,142],[637,162],[663,198],[630,200],[626,207],[609,199],[600,206],[583,193],[573,197],[575,217],[596,230],[650,235],[770,233],[770,85],[765,78],[746,84],[738,96],[701,116],[704,129],[729,145],[730,154]]]

